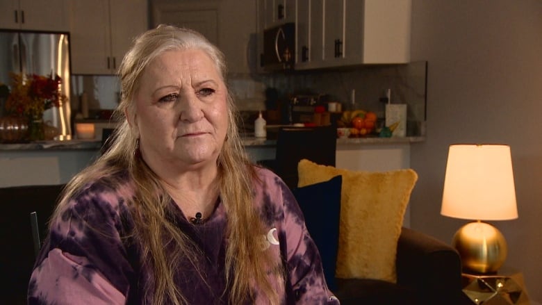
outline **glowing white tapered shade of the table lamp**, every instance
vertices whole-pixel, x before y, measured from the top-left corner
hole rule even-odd
[[[518,217],[508,145],[450,145],[441,214],[467,220]]]

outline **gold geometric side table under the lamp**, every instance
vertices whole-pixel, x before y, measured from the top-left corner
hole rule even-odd
[[[463,293],[473,304],[529,305],[523,274],[467,274],[462,276]]]

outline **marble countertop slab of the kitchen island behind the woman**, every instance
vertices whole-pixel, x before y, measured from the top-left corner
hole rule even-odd
[[[246,147],[274,146],[277,140],[243,136]],[[394,137],[394,138],[340,138],[337,145],[373,145],[373,144],[404,144],[423,142],[425,137]],[[100,140],[67,140],[67,141],[38,141],[30,143],[0,144],[0,151],[36,151],[36,150],[97,150],[101,147]]]

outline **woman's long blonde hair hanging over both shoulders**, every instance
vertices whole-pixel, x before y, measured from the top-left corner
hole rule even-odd
[[[115,111],[120,126],[115,130],[110,148],[68,183],[56,212],[59,213],[61,206],[86,183],[102,177],[113,179],[117,173],[128,172],[136,192],[133,198],[124,198],[134,207],[130,209],[135,221],[135,229],[131,234],[142,249],[141,262],[149,264],[154,272],[154,286],[146,287],[145,295],[153,292],[151,297],[155,304],[186,303],[183,293],[174,283],[174,274],[179,268],[180,258],[188,259],[197,266],[197,254],[192,250],[194,247],[188,247],[192,241],[185,233],[166,220],[171,197],[158,182],[156,174],[151,172],[144,161],[134,156],[138,139],[136,132],[129,126],[124,111],[133,119],[133,96],[138,90],[140,76],[145,67],[165,51],[185,49],[200,49],[206,52],[220,72],[222,81],[226,83],[224,55],[199,33],[174,26],[158,26],[140,35],[120,65],[121,101]],[[270,299],[270,304],[278,304],[279,296],[266,275],[266,270],[269,270],[274,262],[269,252],[262,252],[257,246],[261,242],[261,236],[254,234],[254,229],[263,233],[264,227],[253,202],[256,173],[238,135],[238,113],[230,94],[227,95],[227,104],[227,140],[217,159],[220,198],[228,215],[226,234],[229,242],[225,270],[227,287],[231,287],[231,291],[227,298],[231,304],[243,304],[251,301],[253,289],[258,288]],[[170,249],[165,252],[164,245],[167,244],[175,245],[173,253],[170,253]],[[280,281],[284,281],[282,277],[283,275],[279,276]]]

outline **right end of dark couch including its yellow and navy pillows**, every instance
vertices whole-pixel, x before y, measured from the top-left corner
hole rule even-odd
[[[461,291],[458,252],[402,226],[416,172],[352,172],[309,160],[298,171],[292,191],[341,304],[472,304]]]

